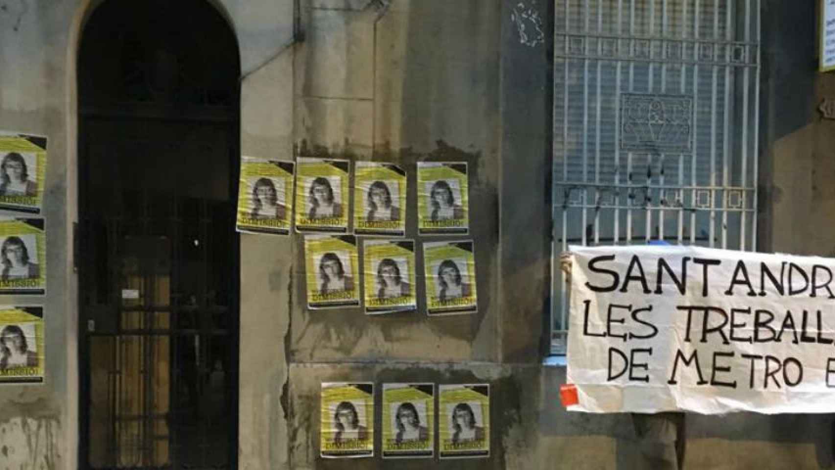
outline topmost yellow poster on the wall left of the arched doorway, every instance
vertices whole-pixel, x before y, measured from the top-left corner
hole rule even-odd
[[[0,210],[40,214],[46,165],[46,137],[0,130]]]

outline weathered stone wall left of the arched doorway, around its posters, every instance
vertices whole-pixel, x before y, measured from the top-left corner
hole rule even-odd
[[[75,461],[78,367],[75,280],[68,250],[75,203],[75,142],[68,125],[68,37],[73,4],[47,8],[30,0],[0,3],[0,128],[46,134],[49,169],[43,214],[47,219],[47,295],[3,296],[4,305],[45,306],[48,341],[43,385],[0,386],[0,468],[68,468]]]

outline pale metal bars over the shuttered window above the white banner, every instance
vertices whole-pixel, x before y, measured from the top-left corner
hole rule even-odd
[[[554,265],[577,244],[756,250],[759,10],[555,0]],[[564,354],[569,291],[552,273]]]

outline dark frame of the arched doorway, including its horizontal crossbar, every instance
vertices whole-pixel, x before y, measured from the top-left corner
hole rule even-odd
[[[74,209],[74,220],[72,225],[72,241],[70,245],[73,250],[73,270],[76,273],[76,286],[73,286],[73,294],[76,296],[71,302],[71,308],[76,311],[76,334],[77,336],[77,373],[78,373],[78,395],[76,417],[78,419],[77,432],[77,456],[75,458],[78,468],[89,468],[89,450],[90,450],[90,413],[89,413],[89,393],[91,392],[91,367],[90,367],[90,344],[88,334],[88,317],[84,309],[83,290],[87,284],[83,280],[85,267],[83,266],[83,227],[84,220],[89,214],[89,187],[85,182],[88,175],[88,165],[90,162],[89,149],[89,120],[90,119],[112,119],[114,121],[132,120],[132,119],[152,119],[178,123],[200,122],[220,124],[224,127],[228,126],[230,132],[230,155],[229,155],[229,177],[228,190],[230,195],[230,203],[235,206],[237,200],[237,188],[240,173],[240,43],[235,33],[235,28],[230,21],[230,16],[215,0],[205,0],[207,8],[211,8],[223,20],[225,27],[228,28],[230,37],[234,41],[235,62],[223,64],[224,67],[235,67],[234,75],[236,77],[234,85],[230,83],[228,91],[231,93],[231,106],[226,109],[219,109],[216,106],[209,105],[193,105],[193,106],[164,106],[164,105],[147,105],[147,104],[116,104],[113,105],[97,105],[89,106],[85,103],[82,96],[83,87],[79,86],[78,80],[81,77],[82,54],[83,54],[83,36],[89,27],[90,19],[93,18],[95,11],[108,3],[107,0],[92,0],[81,8],[79,11],[78,21],[73,33],[73,43],[75,43],[74,53],[71,53],[70,63],[74,63],[74,67],[69,70],[72,76],[69,78],[70,86],[74,87],[75,93],[73,96],[73,104],[69,109],[70,120],[74,119],[74,132],[76,141],[68,151],[68,185],[75,185],[70,189],[76,198]],[[87,100],[89,102],[89,99]],[[75,154],[73,155],[73,151]],[[72,158],[74,156],[74,159]],[[73,161],[74,160],[74,161]],[[74,174],[73,174],[74,172]],[[234,214],[230,220],[229,230],[233,230],[231,236],[234,245],[234,255],[231,256],[231,264],[229,266],[232,275],[235,275],[235,280],[230,284],[230,341],[233,341],[234,353],[230,358],[230,381],[233,384],[227,392],[230,394],[230,401],[234,403],[235,409],[230,412],[235,413],[234,419],[229,422],[230,426],[230,450],[229,462],[231,468],[237,468],[238,450],[240,448],[239,442],[239,410],[238,403],[240,402],[240,235],[235,231]],[[175,404],[171,404],[171,409],[174,409]]]

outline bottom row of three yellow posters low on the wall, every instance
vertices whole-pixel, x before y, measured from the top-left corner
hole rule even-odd
[[[489,384],[383,383],[382,457],[490,455]],[[437,410],[437,412],[436,412]],[[374,384],[321,384],[321,457],[374,455]]]

